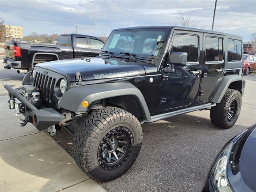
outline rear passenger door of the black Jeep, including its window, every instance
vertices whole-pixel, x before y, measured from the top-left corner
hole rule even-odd
[[[202,67],[202,83],[199,100],[208,101],[214,95],[214,87],[223,76],[223,38],[213,34],[204,34],[204,56]]]

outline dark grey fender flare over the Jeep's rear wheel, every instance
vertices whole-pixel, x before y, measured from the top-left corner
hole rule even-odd
[[[222,78],[222,81],[220,82],[220,85],[214,95],[214,97],[210,100],[210,102],[212,103],[220,103],[226,90],[228,89],[228,87],[230,86],[230,84],[232,82],[241,82],[241,88],[240,88],[240,92],[243,90],[243,82],[244,79],[242,78],[242,76],[240,75],[228,75],[228,76],[224,76]]]

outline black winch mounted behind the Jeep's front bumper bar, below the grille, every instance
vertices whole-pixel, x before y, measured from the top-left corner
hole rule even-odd
[[[20,94],[26,97],[36,108],[39,109],[42,106],[39,89],[35,86],[23,85]]]

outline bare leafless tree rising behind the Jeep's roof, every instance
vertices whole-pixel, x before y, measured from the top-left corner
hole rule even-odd
[[[184,27],[190,27],[190,28],[199,28],[203,29],[204,25],[202,24],[201,20],[192,19],[192,13],[190,15],[180,12],[180,14],[177,16],[178,22],[168,22],[168,25],[174,25],[174,26],[184,26]]]

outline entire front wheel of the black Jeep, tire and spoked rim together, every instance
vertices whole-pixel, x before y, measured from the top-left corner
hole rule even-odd
[[[114,180],[135,162],[142,145],[138,119],[116,107],[89,112],[76,125],[72,151],[76,164],[90,178]]]

